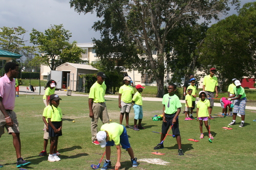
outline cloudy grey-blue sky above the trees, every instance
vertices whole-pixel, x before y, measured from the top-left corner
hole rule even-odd
[[[241,7],[248,2],[254,1],[242,0]],[[70,8],[69,0],[0,0],[0,28],[21,26],[28,31],[26,40],[33,28],[44,32],[51,25],[62,23],[72,33],[70,41],[92,42],[92,38],[100,38],[99,32],[92,29],[98,19],[91,13],[79,15]]]

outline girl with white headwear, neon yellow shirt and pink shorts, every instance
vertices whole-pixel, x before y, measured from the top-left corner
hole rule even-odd
[[[199,92],[199,98],[200,101],[197,102],[197,121],[200,122],[200,139],[204,138],[203,134],[203,122],[204,125],[209,132],[209,126],[208,126],[208,118],[210,119],[210,101],[205,99],[206,93],[204,91]],[[209,133],[209,138],[214,139],[212,135]]]

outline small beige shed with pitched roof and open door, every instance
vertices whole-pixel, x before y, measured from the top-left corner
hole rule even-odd
[[[62,71],[61,88],[79,91],[79,75],[97,74],[98,69],[88,64],[64,63],[56,68]],[[56,80],[55,80],[56,81]]]

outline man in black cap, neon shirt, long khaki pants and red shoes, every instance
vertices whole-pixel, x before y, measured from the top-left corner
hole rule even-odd
[[[109,123],[109,114],[108,110],[106,110],[106,103],[105,103],[105,92],[106,92],[106,85],[104,80],[106,75],[104,72],[98,72],[97,74],[97,81],[92,85],[90,88],[89,93],[89,116],[91,119],[91,133],[92,133],[92,142],[96,145],[99,145],[97,140],[97,132],[98,132],[98,119],[100,118],[103,124]]]

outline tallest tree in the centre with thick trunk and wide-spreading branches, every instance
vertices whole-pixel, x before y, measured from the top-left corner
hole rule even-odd
[[[228,3],[239,5],[238,0],[70,1],[78,13],[96,11],[103,18],[93,26],[101,32],[101,39],[94,39],[97,55],[123,59],[126,67],[138,69],[142,74],[150,70],[160,98],[164,95],[164,62],[169,60],[165,53],[169,32],[182,21],[218,19],[221,12],[229,10]],[[154,50],[157,58],[153,56]]]

